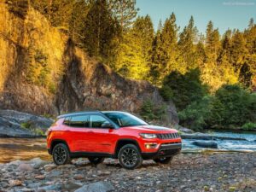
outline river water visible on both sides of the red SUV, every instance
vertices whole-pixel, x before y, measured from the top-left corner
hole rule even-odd
[[[256,132],[211,132],[210,134],[213,136],[240,137],[246,139],[245,141],[214,140],[214,142],[218,143],[218,149],[214,149],[214,151],[223,152],[236,150],[256,152]],[[192,144],[194,141],[195,140],[183,139],[183,152],[200,152],[206,149],[196,147]],[[0,163],[12,160],[31,160],[35,157],[50,160],[51,157],[46,150],[45,138],[0,138]]]

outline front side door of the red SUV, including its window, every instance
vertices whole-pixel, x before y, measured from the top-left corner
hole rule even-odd
[[[110,127],[103,128],[102,125],[106,123],[111,124],[102,115],[90,115],[90,131],[92,131],[90,138],[93,144],[91,150],[95,153],[111,154],[113,151],[113,145],[117,139],[116,130]]]

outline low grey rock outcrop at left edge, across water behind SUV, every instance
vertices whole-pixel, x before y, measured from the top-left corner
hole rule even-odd
[[[52,123],[52,119],[29,113],[0,110],[0,137],[38,137]]]

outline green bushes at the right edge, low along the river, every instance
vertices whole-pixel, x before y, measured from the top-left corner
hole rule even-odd
[[[178,113],[180,123],[204,128],[252,130],[256,123],[256,95],[235,84],[222,86],[215,96],[205,96]],[[247,123],[249,122],[249,123]]]

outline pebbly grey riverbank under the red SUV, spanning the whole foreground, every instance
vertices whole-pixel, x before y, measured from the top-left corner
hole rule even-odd
[[[36,158],[0,164],[0,175],[0,191],[255,191],[256,154],[178,154],[170,165],[148,160],[133,171],[117,160],[55,166]]]

